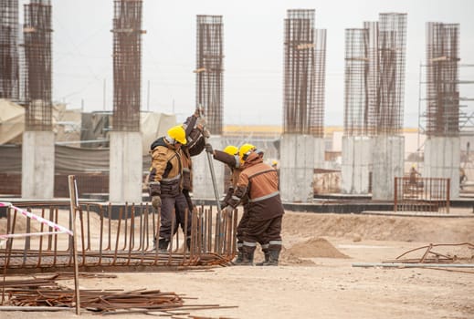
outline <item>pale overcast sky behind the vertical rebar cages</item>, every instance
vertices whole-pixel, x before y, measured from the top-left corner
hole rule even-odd
[[[113,0],[51,3],[54,99],[86,111],[103,110],[105,99],[111,110]],[[379,13],[407,14],[406,127],[417,127],[428,21],[460,24],[461,63],[474,64],[472,0],[143,0],[142,109],[178,118],[193,112],[195,16],[223,15],[225,123],[281,124],[284,18],[297,8],[315,9],[316,28],[327,30],[326,126],[343,124],[344,29],[378,20]],[[461,77],[474,80],[474,67],[461,68]],[[474,98],[474,85],[460,90]]]

